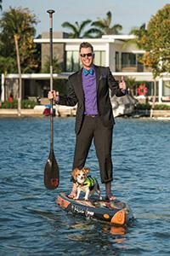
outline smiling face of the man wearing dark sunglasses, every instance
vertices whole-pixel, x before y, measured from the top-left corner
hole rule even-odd
[[[82,67],[90,69],[94,61],[94,53],[90,47],[82,48],[80,52],[80,59],[82,61]]]

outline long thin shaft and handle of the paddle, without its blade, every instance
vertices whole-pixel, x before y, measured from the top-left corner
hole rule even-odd
[[[53,90],[53,14],[54,10],[49,9],[49,42],[50,42],[50,54],[49,54],[49,65],[50,65],[50,90]],[[50,151],[54,150],[54,114],[53,114],[53,99],[50,100]]]

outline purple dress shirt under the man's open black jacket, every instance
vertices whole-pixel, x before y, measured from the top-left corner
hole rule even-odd
[[[85,99],[84,114],[92,114],[92,115],[98,114],[95,71],[94,71],[94,74],[89,73],[88,75],[85,75],[83,73],[83,68],[82,68],[82,88],[84,91],[84,99]]]

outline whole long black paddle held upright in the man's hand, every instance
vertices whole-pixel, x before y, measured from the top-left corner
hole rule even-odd
[[[53,90],[53,14],[54,10],[49,9],[49,37],[50,37],[50,90]],[[53,99],[50,100],[50,153],[44,169],[44,184],[47,189],[56,189],[59,186],[59,166],[54,156],[54,115]]]

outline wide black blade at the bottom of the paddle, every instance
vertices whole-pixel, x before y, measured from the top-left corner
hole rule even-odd
[[[56,189],[59,186],[59,166],[55,160],[54,151],[50,151],[44,169],[44,185],[47,189]]]

